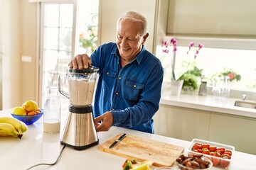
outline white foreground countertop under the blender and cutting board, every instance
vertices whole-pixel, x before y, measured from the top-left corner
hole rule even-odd
[[[0,116],[11,117],[11,109],[0,111]],[[65,114],[63,114],[65,115]],[[33,125],[28,125],[28,131],[24,133],[21,140],[14,137],[0,137],[0,167],[4,170],[21,169],[25,170],[35,164],[53,163],[57,159],[63,145],[60,145],[60,134],[65,122],[65,116],[61,118],[60,133],[47,134],[43,132],[43,117]],[[108,132],[98,132],[100,144],[110,140],[112,137],[126,132],[151,140],[178,145],[187,149],[190,142],[177,140],[171,137],[153,135],[125,128],[112,127]],[[100,145],[99,144],[99,145]],[[65,147],[57,164],[54,166],[41,165],[35,169],[122,169],[126,159],[114,154],[102,152],[97,146],[78,151]],[[243,152],[233,152],[233,161],[230,169],[255,169],[256,155]],[[216,169],[213,167],[213,169]]]

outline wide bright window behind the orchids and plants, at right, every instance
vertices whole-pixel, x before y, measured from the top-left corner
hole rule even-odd
[[[171,40],[170,37],[164,38]],[[251,91],[256,89],[256,50],[255,42],[252,39],[227,39],[223,42],[218,38],[177,38],[178,47],[176,51],[176,74],[181,76],[183,68],[181,62],[186,59],[188,51],[188,43],[191,41],[201,42],[204,47],[200,50],[196,57],[197,66],[203,69],[203,74],[208,79],[208,85],[212,86],[213,74],[220,73],[224,68],[233,69],[241,75],[241,81],[230,84],[230,88],[237,91]],[[237,44],[239,42],[239,45]],[[221,48],[222,47],[222,48]],[[170,53],[172,55],[172,53]],[[156,48],[156,56],[158,56],[164,66],[164,81],[171,81],[171,56],[163,55],[161,45]]]

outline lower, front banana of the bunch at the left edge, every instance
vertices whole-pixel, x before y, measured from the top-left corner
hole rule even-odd
[[[12,136],[21,139],[23,134],[19,134],[13,125],[9,123],[0,123],[0,136]]]

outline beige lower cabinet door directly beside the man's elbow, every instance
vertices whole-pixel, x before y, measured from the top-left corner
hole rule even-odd
[[[193,138],[208,140],[210,112],[190,108],[161,105],[154,115],[157,135],[191,141]]]

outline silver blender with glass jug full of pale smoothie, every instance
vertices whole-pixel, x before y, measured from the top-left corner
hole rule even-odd
[[[97,145],[99,139],[92,114],[92,100],[97,77],[96,67],[87,69],[68,69],[68,73],[58,79],[60,94],[69,98],[70,106],[67,120],[60,137],[60,143],[82,150]],[[68,81],[68,91],[63,90],[63,79]]]

